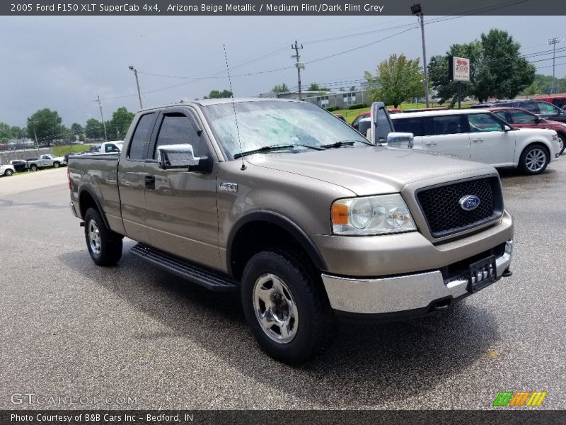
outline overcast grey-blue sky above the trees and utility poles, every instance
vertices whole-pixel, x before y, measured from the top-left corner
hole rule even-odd
[[[425,22],[436,18],[425,16]],[[257,96],[283,82],[294,88],[294,67],[242,76],[292,67],[294,40],[304,45],[300,52],[301,61],[306,62],[304,87],[317,82],[333,83],[336,90],[349,88],[357,85],[354,81],[362,79],[365,70],[373,72],[391,53],[422,57],[420,28],[410,28],[416,23],[412,16],[1,16],[0,122],[23,126],[37,109],[51,108],[65,125],[84,125],[87,114],[100,115],[93,102],[97,95],[103,99],[105,119],[120,106],[137,111],[139,101],[129,64],[139,71],[144,107],[228,89],[226,78],[149,75],[222,77],[226,75],[223,43],[235,96]],[[391,27],[397,28],[386,30]],[[444,54],[451,44],[479,38],[491,28],[507,30],[526,54],[549,50],[548,38],[566,36],[564,16],[456,17],[425,26],[427,58]],[[345,37],[356,33],[365,34]],[[308,63],[386,37],[391,38]],[[537,72],[552,74],[552,55],[530,60],[543,60],[536,62]],[[556,64],[556,77],[565,77],[566,58],[558,58]]]

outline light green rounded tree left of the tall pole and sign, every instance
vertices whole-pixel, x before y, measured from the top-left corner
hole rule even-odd
[[[422,68],[419,60],[408,60],[405,55],[393,54],[377,67],[377,74],[366,71],[364,78],[369,84],[369,98],[397,108],[400,103],[423,96]]]

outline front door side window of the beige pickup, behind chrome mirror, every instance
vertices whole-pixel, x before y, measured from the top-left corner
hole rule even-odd
[[[154,159],[157,158],[157,147],[162,145],[192,145],[195,157],[206,157],[209,154],[207,142],[199,135],[197,125],[192,118],[182,113],[171,113],[163,116],[161,128],[157,136]]]

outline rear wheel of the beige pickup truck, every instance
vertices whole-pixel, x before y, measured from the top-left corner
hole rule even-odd
[[[122,237],[104,224],[98,210],[88,208],[84,215],[84,236],[88,253],[98,266],[113,266],[122,257]]]

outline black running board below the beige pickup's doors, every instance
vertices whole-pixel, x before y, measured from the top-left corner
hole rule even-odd
[[[166,254],[163,251],[158,251],[144,244],[132,246],[130,252],[142,259],[160,266],[161,268],[165,268],[167,271],[180,276],[181,278],[185,278],[193,283],[204,286],[204,288],[209,290],[233,291],[240,288],[240,285],[236,282],[236,280],[208,271],[205,268],[195,266],[183,259],[179,259],[171,254]]]

